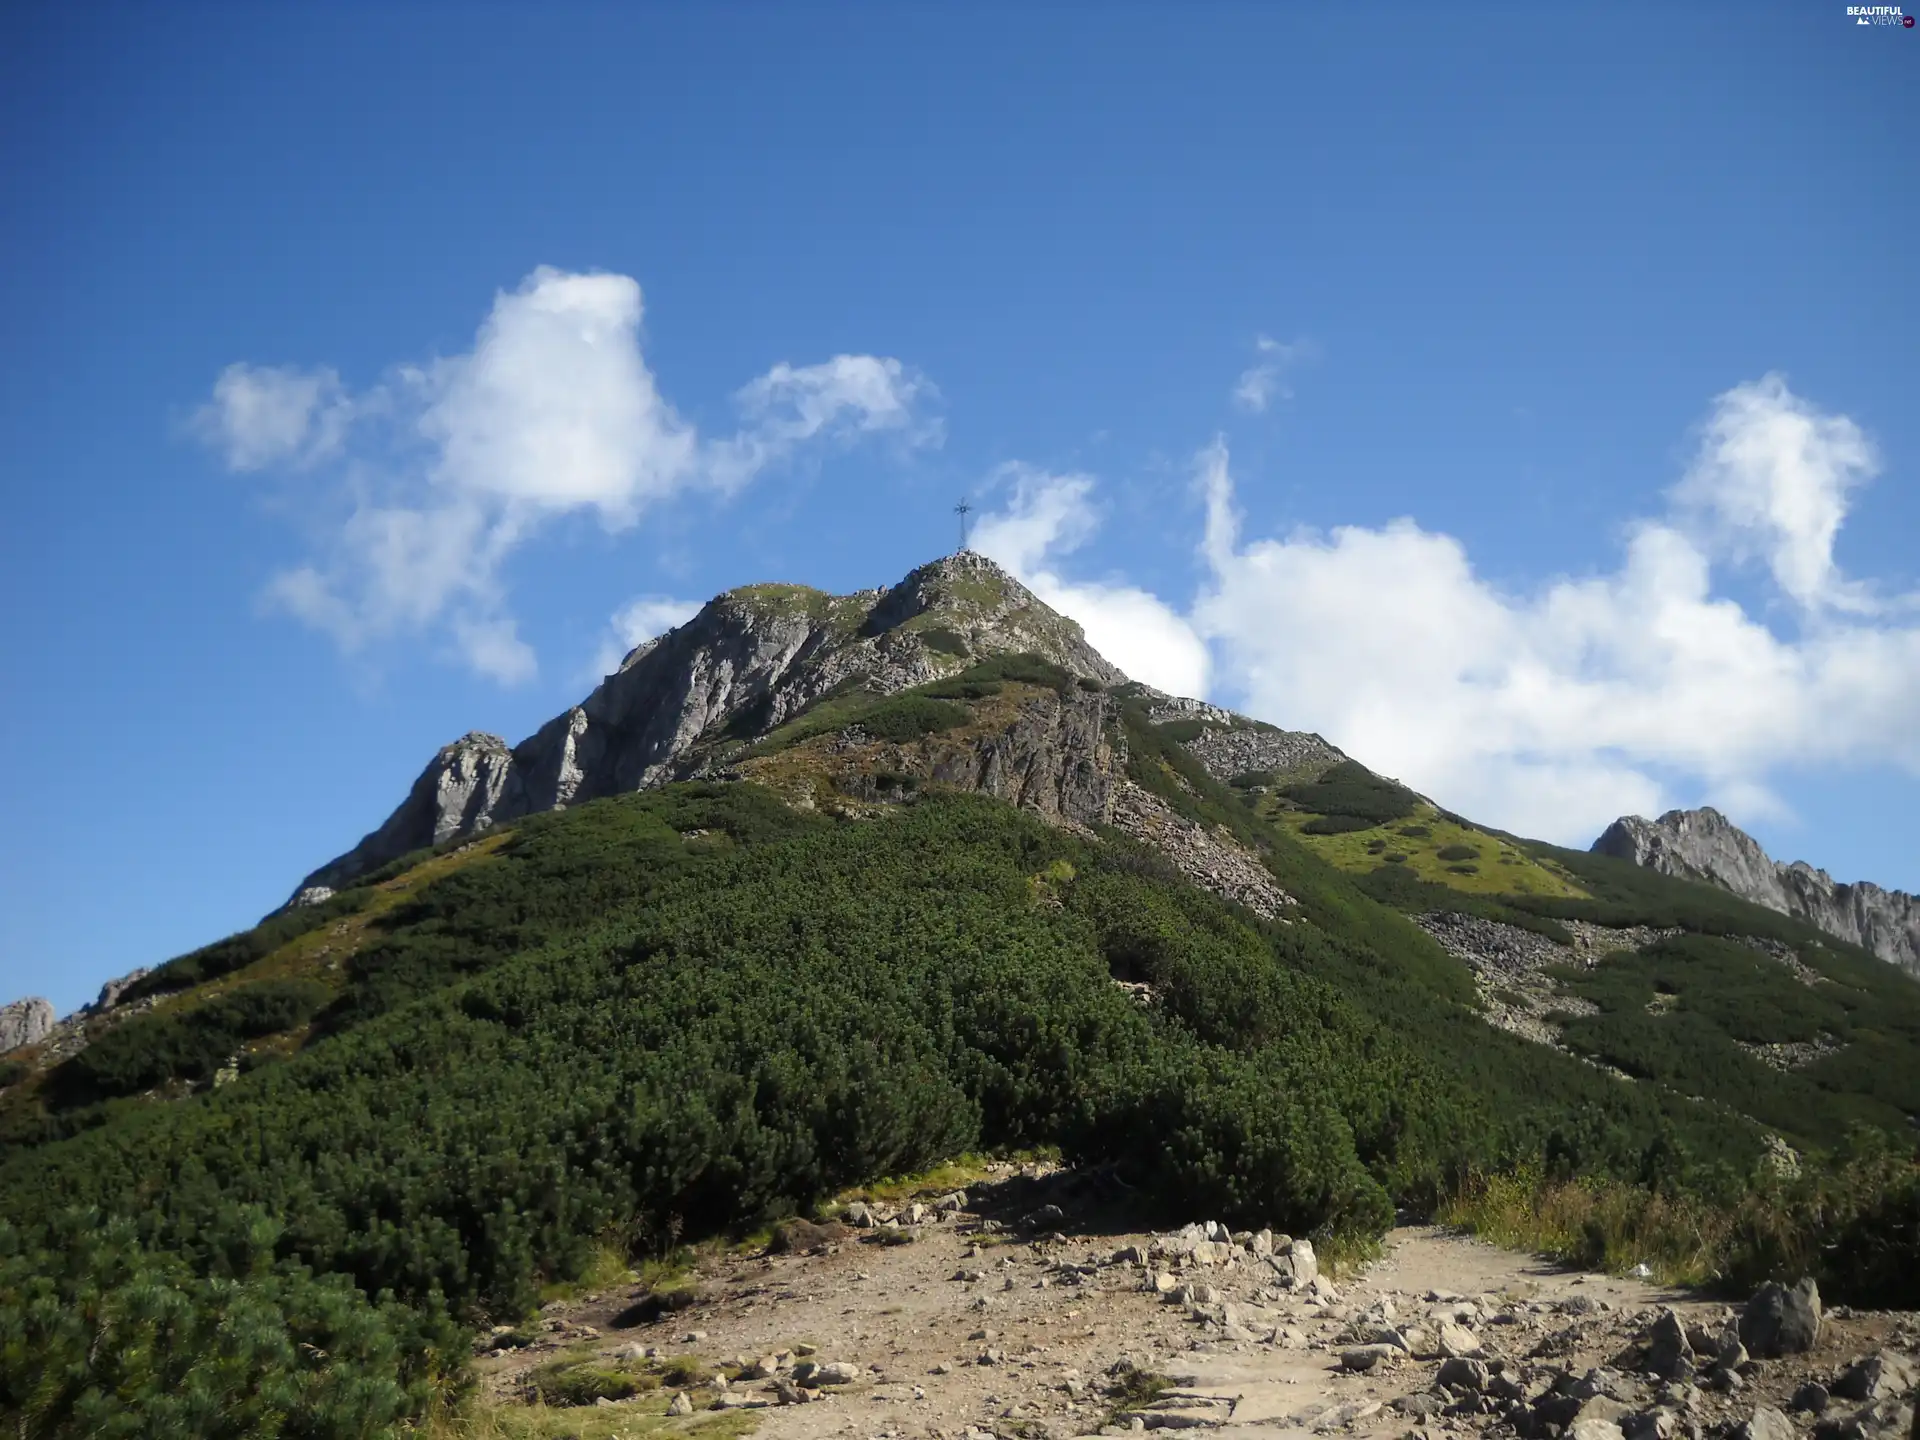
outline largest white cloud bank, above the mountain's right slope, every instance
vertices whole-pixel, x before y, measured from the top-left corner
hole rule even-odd
[[[1788,764],[1920,774],[1920,628],[1876,620],[1905,605],[1870,614],[1834,563],[1872,455],[1778,376],[1715,401],[1672,509],[1630,526],[1611,574],[1523,593],[1413,520],[1244,538],[1223,444],[1198,472],[1210,578],[1188,618],[1223,699],[1467,814],[1586,843],[1674,785],[1753,816]],[[1715,563],[1745,555],[1791,634],[1715,593]]]

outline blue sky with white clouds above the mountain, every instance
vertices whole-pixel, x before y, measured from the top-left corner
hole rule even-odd
[[[4,25],[0,998],[250,924],[438,745],[960,493],[1144,678],[1469,814],[1715,801],[1920,889],[1914,31]]]

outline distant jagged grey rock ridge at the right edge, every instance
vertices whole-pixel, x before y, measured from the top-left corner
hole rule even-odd
[[[1703,879],[1837,935],[1920,979],[1920,897],[1870,881],[1836,883],[1805,860],[1780,864],[1718,810],[1620,816],[1594,851],[1680,879]]]

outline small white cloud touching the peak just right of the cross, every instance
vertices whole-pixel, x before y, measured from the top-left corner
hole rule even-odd
[[[1004,509],[985,515],[973,528],[973,549],[1077,620],[1087,643],[1135,680],[1175,695],[1206,693],[1206,643],[1173,607],[1135,586],[1069,582],[1054,568],[1098,528],[1092,476],[1008,465],[993,484],[1010,493]]]

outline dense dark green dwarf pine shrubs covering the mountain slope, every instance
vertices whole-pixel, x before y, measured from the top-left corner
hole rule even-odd
[[[1006,684],[1071,689],[995,657],[887,701],[849,689],[783,733],[906,741]],[[1342,876],[1213,780],[1188,722],[1114,699],[1127,774],[1258,851],[1294,902],[1281,922],[1123,835],[985,799],[902,783],[910,801],[854,822],[747,783],[676,785],[528,818],[388,910],[359,891],[173,962],[152,993],[188,970],[232,979],[104,1033],[36,1092],[40,1129],[0,1142],[0,1415],[113,1434],[88,1428],[102,1396],[134,1396],[127,1413],[148,1419],[127,1434],[202,1432],[192,1417],[225,1405],[238,1428],[204,1432],[378,1434],[457,1384],[459,1327],[524,1317],[607,1244],[753,1231],[981,1146],[1110,1164],[1165,1221],[1375,1235],[1396,1202],[1496,1192],[1488,1215],[1519,1213],[1511,1183],[1480,1179],[1519,1167],[1530,1196],[1611,1196],[1605,1213],[1651,1233],[1686,1206],[1738,1210],[1763,1152],[1743,1116],[1812,1144],[1920,1110],[1903,1064],[1920,1014],[1889,1006],[1855,952],[1795,931],[1832,981],[1811,989],[1713,939],[1751,906],[1605,866],[1567,918],[1699,922],[1659,922],[1692,933],[1569,977],[1599,1006],[1569,1039],[1655,1083],[1473,1023],[1465,968],[1404,912],[1565,939],[1549,906],[1382,879],[1404,868]],[[1300,791],[1367,826],[1411,808],[1357,766],[1288,791],[1308,804]],[[234,975],[353,910],[365,939],[324,989]],[[1152,1004],[1114,979],[1144,981]],[[204,1083],[261,1035],[292,1054]],[[1793,1073],[1738,1044],[1818,1037],[1847,1044]],[[194,1092],[129,1098],[156,1087]],[[1834,1164],[1851,1169],[1809,1162],[1811,1198],[1782,1200],[1772,1229],[1716,1231],[1716,1273],[1828,1256],[1839,1236],[1905,1263],[1910,1154],[1882,1142]],[[1841,1181],[1814,1177],[1839,1173],[1859,1198],[1822,1204]],[[1836,1294],[1889,1284],[1820,1263]],[[215,1359],[188,1377],[182,1346]]]

